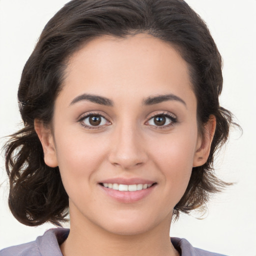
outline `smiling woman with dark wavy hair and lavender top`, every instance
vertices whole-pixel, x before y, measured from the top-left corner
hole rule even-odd
[[[212,172],[232,122],[221,88],[220,54],[184,1],[67,3],[23,69],[6,169],[20,222],[69,210],[70,231],[0,255],[217,255],[170,242],[169,226],[226,185]]]

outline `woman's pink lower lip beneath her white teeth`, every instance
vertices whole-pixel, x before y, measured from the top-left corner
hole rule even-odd
[[[145,198],[154,189],[155,184],[141,190],[136,191],[119,191],[99,185],[101,189],[111,198],[124,203],[132,203]]]

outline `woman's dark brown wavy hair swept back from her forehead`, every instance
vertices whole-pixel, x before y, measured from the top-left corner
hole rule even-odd
[[[72,0],[44,27],[20,79],[18,101],[24,128],[12,134],[5,145],[5,165],[9,207],[21,223],[57,224],[68,212],[59,169],[44,163],[34,130],[35,118],[45,124],[51,121],[68,57],[95,37],[141,32],[169,42],[188,63],[197,98],[198,131],[202,134],[210,114],[216,117],[209,157],[192,169],[174,215],[203,206],[210,193],[227,184],[214,175],[212,163],[214,153],[227,140],[232,115],[219,105],[222,61],[203,20],[183,0]]]

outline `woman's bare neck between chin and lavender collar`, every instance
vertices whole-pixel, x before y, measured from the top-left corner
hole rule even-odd
[[[70,215],[70,232],[60,249],[63,256],[177,256],[169,238],[170,221],[168,216],[151,230],[127,235],[108,232],[87,219],[76,223]]]

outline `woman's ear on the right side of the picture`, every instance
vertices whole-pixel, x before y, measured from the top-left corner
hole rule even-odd
[[[196,151],[193,159],[193,167],[203,165],[209,156],[210,145],[216,128],[216,117],[211,114],[204,124],[204,133],[198,137]]]

